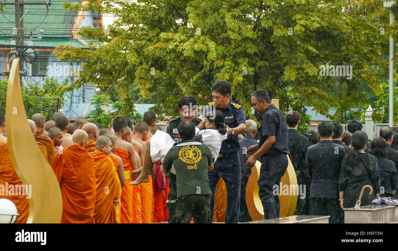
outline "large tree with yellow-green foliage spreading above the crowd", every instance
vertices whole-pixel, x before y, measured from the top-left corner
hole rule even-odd
[[[142,98],[153,98],[157,114],[178,115],[184,95],[198,104],[211,102],[211,86],[226,79],[232,99],[248,118],[250,94],[265,89],[279,98],[280,109],[289,105],[302,114],[302,130],[310,118],[304,106],[334,121],[345,111],[369,100],[361,85],[379,95],[377,81],[386,74],[388,10],[381,0],[90,0],[71,9],[101,10],[116,21],[106,30],[85,27],[79,35],[93,50],[58,46],[59,60],[84,60],[74,89],[92,82],[101,90],[115,89],[126,106],[133,104],[131,85]],[[95,50],[94,50],[95,49]],[[320,75],[320,65],[352,66],[352,79]],[[371,64],[377,64],[376,71]],[[329,69],[327,69],[329,71]],[[156,95],[151,96],[151,94]],[[369,104],[368,104],[369,105]],[[337,107],[334,116],[328,111]],[[359,112],[360,113],[360,112]]]

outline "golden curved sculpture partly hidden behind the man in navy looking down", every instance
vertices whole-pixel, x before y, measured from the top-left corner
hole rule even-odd
[[[279,99],[272,99],[271,104],[274,104],[276,108],[279,109]],[[298,186],[297,186],[297,177],[295,169],[293,168],[293,164],[290,161],[289,156],[287,157],[289,161],[289,165],[287,166],[287,170],[281,179],[282,186],[287,185],[289,187],[289,195],[282,195],[281,191],[283,187],[279,187],[280,195],[280,210],[279,217],[291,216],[295,213],[297,206],[297,194],[298,194]],[[264,209],[261,204],[260,197],[258,195],[258,178],[260,176],[260,166],[261,163],[259,161],[252,168],[252,174],[248,180],[248,184],[246,185],[246,205],[248,207],[248,211],[253,220],[264,220]],[[280,184],[278,184],[280,186]],[[290,187],[295,188],[295,195],[291,194],[292,189]]]

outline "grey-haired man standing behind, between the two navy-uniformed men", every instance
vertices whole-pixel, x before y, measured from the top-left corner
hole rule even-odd
[[[242,177],[240,178],[240,214],[239,222],[252,221],[248,207],[246,205],[246,185],[248,184],[249,177],[252,174],[252,169],[246,167],[246,151],[252,145],[257,145],[254,137],[257,133],[257,124],[254,120],[246,120],[246,133],[245,137],[239,141],[241,150],[239,151],[240,168],[242,170]]]

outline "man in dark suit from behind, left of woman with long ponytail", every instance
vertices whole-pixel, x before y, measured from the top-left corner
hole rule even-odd
[[[338,180],[345,148],[332,142],[330,122],[318,126],[321,141],[307,149],[306,166],[311,177],[310,215],[330,215],[329,223],[344,223],[339,203]]]

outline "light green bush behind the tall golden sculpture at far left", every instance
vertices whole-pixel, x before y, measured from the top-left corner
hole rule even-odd
[[[7,81],[0,80],[0,113],[6,112],[6,93]],[[43,86],[39,87],[36,83],[21,82],[21,91],[25,111],[28,118],[33,114],[41,113],[46,120],[52,120],[53,114],[58,107],[62,107],[64,102],[64,91],[54,78],[46,78]]]

